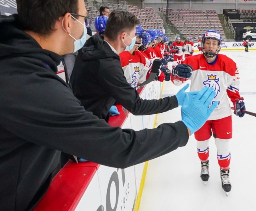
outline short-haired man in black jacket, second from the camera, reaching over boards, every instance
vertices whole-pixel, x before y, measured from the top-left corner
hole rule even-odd
[[[92,36],[76,57],[70,78],[73,93],[87,111],[106,121],[115,101],[134,115],[165,112],[176,102],[176,96],[142,100],[124,76],[119,53],[131,44],[132,38],[136,39],[137,24],[138,19],[130,12],[113,11],[104,37]]]

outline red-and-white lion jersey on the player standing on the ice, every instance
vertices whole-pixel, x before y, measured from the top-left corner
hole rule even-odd
[[[221,119],[231,115],[230,102],[241,98],[239,94],[239,72],[236,63],[225,55],[217,54],[216,60],[211,64],[206,62],[204,54],[190,56],[182,63],[193,67],[190,91],[201,90],[204,86],[213,87],[218,101],[218,106],[208,120]],[[173,80],[175,85],[182,82]],[[213,103],[212,102],[212,103]],[[212,104],[211,103],[211,104]]]

